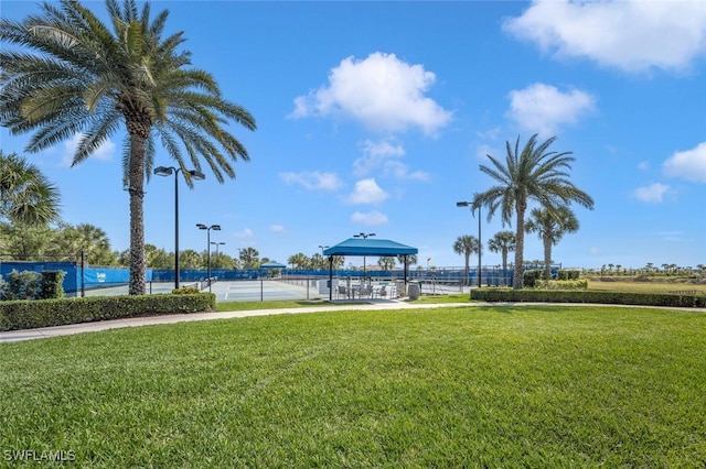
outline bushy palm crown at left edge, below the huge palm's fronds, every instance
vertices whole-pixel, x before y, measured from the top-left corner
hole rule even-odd
[[[23,226],[46,225],[58,219],[58,189],[35,165],[0,150],[0,219]]]

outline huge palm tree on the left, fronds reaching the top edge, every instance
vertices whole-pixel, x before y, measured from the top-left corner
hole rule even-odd
[[[232,162],[247,161],[245,148],[227,131],[231,121],[255,130],[255,120],[227,101],[214,78],[191,65],[179,32],[162,37],[169,12],[152,21],[150,4],[106,0],[109,26],[78,0],[44,3],[41,15],[0,20],[2,95],[0,124],[13,134],[34,131],[28,152],[39,152],[81,134],[73,165],[85,161],[122,126],[122,183],[130,198],[130,294],[145,293],[145,181],[157,142],[182,170],[201,171],[202,156],[220,183],[235,177]],[[34,52],[34,53],[33,53]]]

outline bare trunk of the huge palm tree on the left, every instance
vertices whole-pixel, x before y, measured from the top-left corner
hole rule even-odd
[[[145,294],[145,138],[130,135],[130,295]]]

